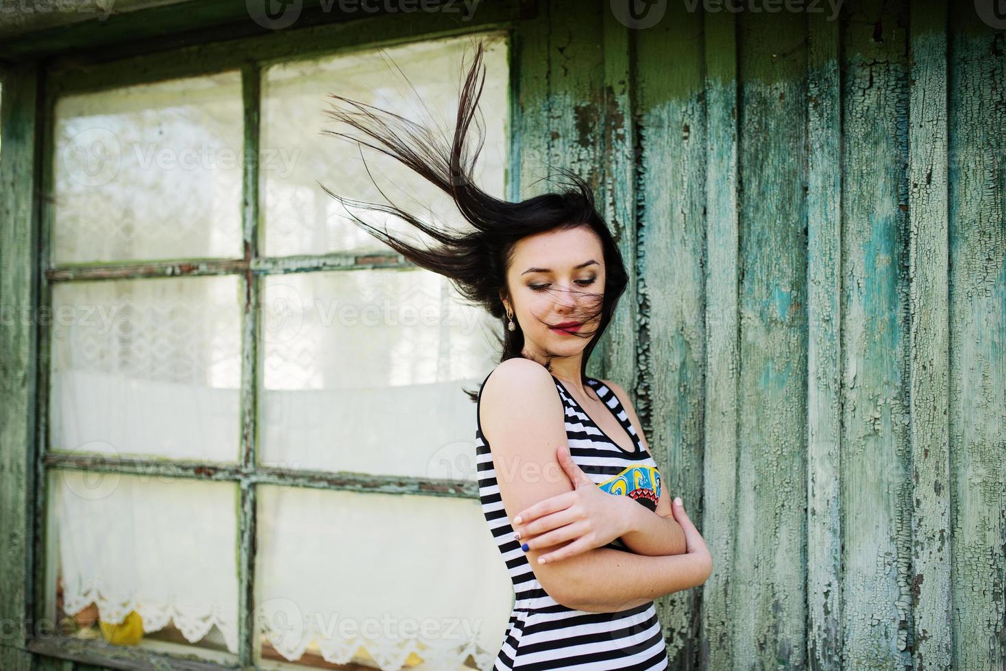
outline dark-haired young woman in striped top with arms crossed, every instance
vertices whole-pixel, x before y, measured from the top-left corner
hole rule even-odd
[[[468,130],[485,72],[482,45],[462,87],[450,147],[420,126],[331,95],[328,114],[366,136],[328,132],[393,157],[449,194],[472,230],[439,230],[393,206],[436,245],[421,248],[353,215],[417,265],[504,320],[501,363],[477,392],[482,509],[515,603],[495,669],[666,669],[653,600],[708,578],[708,548],[661,486],[629,396],[585,375],[628,277],[590,186],[519,203],[472,182]],[[476,125],[477,128],[479,125]],[[323,187],[324,188],[324,187]],[[343,204],[361,205],[333,194]],[[348,210],[348,208],[347,208]]]

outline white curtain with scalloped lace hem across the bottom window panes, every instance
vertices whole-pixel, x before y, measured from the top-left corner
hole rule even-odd
[[[67,613],[215,625],[236,653],[235,485],[58,469],[50,490]],[[254,621],[288,660],[492,666],[512,592],[478,501],[260,486],[259,510]]]

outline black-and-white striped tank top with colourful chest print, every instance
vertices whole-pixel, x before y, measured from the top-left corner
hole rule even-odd
[[[552,380],[565,411],[566,438],[573,462],[605,491],[631,496],[650,510],[656,510],[661,487],[657,463],[643,447],[618,396],[600,380],[588,378],[598,398],[630,435],[635,445],[633,452],[619,447],[579,407],[558,378],[552,376]],[[475,433],[479,497],[514,590],[513,610],[494,671],[668,668],[666,643],[652,601],[619,613],[592,613],[563,606],[542,589],[527,555],[513,538],[513,526],[503,507],[489,443],[482,434],[478,415],[481,401],[480,389]],[[631,551],[621,538],[605,547]]]

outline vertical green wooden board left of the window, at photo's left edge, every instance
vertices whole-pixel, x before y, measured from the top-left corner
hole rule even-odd
[[[35,626],[31,598],[35,496],[38,74],[0,70],[0,668],[27,671]]]

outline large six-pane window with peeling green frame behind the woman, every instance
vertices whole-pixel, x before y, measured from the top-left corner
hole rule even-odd
[[[504,197],[507,36],[477,37],[477,178]],[[470,43],[384,49],[432,117],[373,48],[54,100],[45,590],[67,636],[263,668],[491,663],[511,590],[462,389],[499,324],[316,183],[380,202],[365,159],[397,204],[458,218],[320,131],[329,91],[453,130]]]

